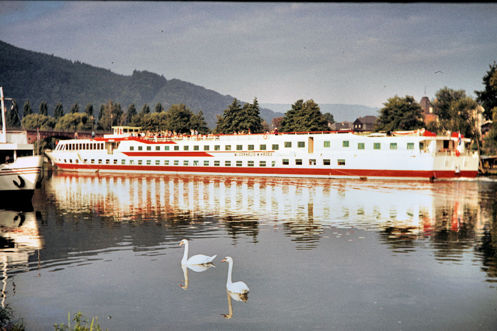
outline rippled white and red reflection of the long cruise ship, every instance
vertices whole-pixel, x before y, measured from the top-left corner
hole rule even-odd
[[[377,231],[396,254],[428,240],[435,259],[457,261],[475,246],[491,281],[497,276],[496,183],[59,173],[47,186],[66,212],[94,210],[116,222],[179,217],[188,221],[178,227],[211,223],[254,241],[265,226],[283,229],[296,249],[354,229]]]

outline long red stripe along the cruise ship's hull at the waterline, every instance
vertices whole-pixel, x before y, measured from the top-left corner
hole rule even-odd
[[[433,170],[370,170],[370,169],[323,169],[323,168],[273,168],[273,167],[205,167],[205,166],[154,166],[154,165],[85,165],[60,164],[62,170],[69,171],[119,171],[119,172],[172,172],[172,173],[213,173],[223,175],[251,174],[262,176],[295,177],[391,177],[391,178],[474,178],[478,171],[433,171]]]

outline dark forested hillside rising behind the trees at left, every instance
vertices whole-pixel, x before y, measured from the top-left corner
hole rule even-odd
[[[29,99],[33,109],[47,103],[48,115],[53,116],[57,103],[64,113],[71,106],[92,104],[98,109],[112,100],[123,109],[134,103],[161,103],[164,108],[185,104],[192,112],[202,111],[208,126],[214,128],[216,115],[233,102],[231,95],[197,86],[179,79],[166,79],[153,72],[134,70],[131,76],[119,75],[108,69],[72,62],[53,55],[23,50],[0,41],[0,86],[4,94],[22,105]],[[245,102],[242,102],[242,104]],[[283,116],[261,108],[260,116],[267,123]]]

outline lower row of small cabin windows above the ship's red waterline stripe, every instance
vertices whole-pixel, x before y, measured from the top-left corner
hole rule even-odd
[[[105,160],[105,164],[110,164],[110,161],[112,161],[112,164],[118,164],[118,161],[119,160],[109,160],[109,159],[106,159]],[[138,165],[143,165],[143,160],[136,160]],[[316,159],[309,159],[309,165],[316,165]],[[64,162],[67,163],[67,159],[64,159]],[[146,160],[145,161],[146,165],[152,165],[152,160]],[[183,166],[189,166],[190,163],[189,160],[183,160]],[[69,163],[73,163],[73,160],[72,159],[69,159]],[[74,163],[81,163],[79,159],[76,159],[74,160]],[[84,159],[83,160],[83,163],[87,164],[88,163],[88,160],[87,159]],[[95,164],[95,159],[90,159],[90,164]],[[102,164],[103,161],[101,159],[97,160],[97,163],[98,164]],[[121,159],[121,164],[122,165],[125,165],[126,164],[126,160],[125,159]],[[135,164],[135,160],[129,160],[129,164],[130,165],[134,165]],[[160,160],[155,160],[155,165],[161,165],[161,161]],[[303,164],[303,160],[302,159],[295,159],[295,165],[302,165]],[[172,164],[169,162],[169,160],[164,160],[164,165],[175,165],[175,166],[178,166],[179,165],[179,160],[173,160],[172,161]],[[199,162],[198,160],[194,160],[192,161],[192,165],[194,166],[198,166],[199,165]],[[215,167],[218,167],[221,165],[221,161],[219,160],[215,160],[214,161],[214,166]],[[231,167],[232,163],[231,161],[224,161],[224,166],[225,167]],[[243,167],[243,161],[236,161],[235,165],[237,167]],[[276,161],[271,161],[271,166],[274,167],[276,165]],[[290,159],[283,159],[283,165],[290,165]],[[324,159],[323,160],[323,165],[331,165],[331,160],[330,159]],[[345,165],[345,160],[343,159],[338,159],[337,160],[337,165]],[[210,166],[210,160],[204,160],[204,167],[208,167]],[[254,161],[247,161],[247,166],[248,167],[253,167],[254,166]],[[266,161],[259,161],[259,167],[265,167],[266,166]]]

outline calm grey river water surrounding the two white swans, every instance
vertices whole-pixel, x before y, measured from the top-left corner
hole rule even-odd
[[[495,330],[496,196],[488,179],[46,173],[32,207],[0,210],[2,304],[27,330],[79,311],[109,330]],[[182,239],[216,267],[183,270]]]

